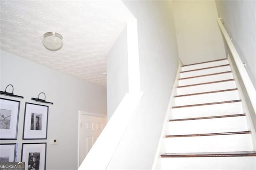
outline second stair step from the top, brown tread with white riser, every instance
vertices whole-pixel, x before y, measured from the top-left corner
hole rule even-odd
[[[189,71],[183,71],[180,72],[180,78],[186,78],[186,77],[194,77],[198,75],[206,75],[206,74],[213,74],[213,73],[220,73],[224,71],[231,71],[230,65],[218,65],[214,67],[206,67],[201,69],[195,69],[195,70],[189,70]]]

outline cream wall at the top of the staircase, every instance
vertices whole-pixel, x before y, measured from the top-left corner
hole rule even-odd
[[[174,0],[179,57],[184,65],[225,58],[214,0]]]

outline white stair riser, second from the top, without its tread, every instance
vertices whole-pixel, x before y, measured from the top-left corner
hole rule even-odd
[[[202,70],[197,70],[197,71],[189,71],[189,72],[185,72],[185,73],[180,73],[180,78],[220,73],[220,72],[224,72],[224,71],[230,71],[230,66],[223,66],[223,67],[216,67],[216,68],[211,68],[211,69],[202,69]]]

